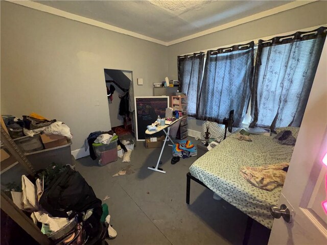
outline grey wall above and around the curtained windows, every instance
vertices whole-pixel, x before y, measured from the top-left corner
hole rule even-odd
[[[327,23],[327,2],[318,1],[168,47],[168,77],[177,79],[177,56],[234,43],[292,32]],[[189,129],[201,131],[202,121],[189,118]],[[193,132],[196,133],[196,132]]]

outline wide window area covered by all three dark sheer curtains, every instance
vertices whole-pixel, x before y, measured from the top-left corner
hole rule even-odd
[[[204,69],[204,53],[179,56],[178,78],[189,96],[189,116],[220,123],[235,110],[234,126],[240,127],[245,117],[248,122],[250,108],[250,127],[299,127],[326,30],[259,40],[258,48],[250,42],[208,51]]]

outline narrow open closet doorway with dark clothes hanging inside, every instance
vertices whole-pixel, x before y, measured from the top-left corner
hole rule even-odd
[[[130,70],[104,69],[111,129],[134,136],[134,88]]]

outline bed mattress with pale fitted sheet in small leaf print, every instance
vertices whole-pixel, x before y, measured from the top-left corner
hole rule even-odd
[[[197,159],[190,173],[225,201],[271,229],[269,207],[278,204],[282,187],[272,191],[254,187],[241,176],[240,167],[290,162],[294,146],[279,144],[273,141],[274,136],[251,135],[251,142],[233,137],[236,135]]]

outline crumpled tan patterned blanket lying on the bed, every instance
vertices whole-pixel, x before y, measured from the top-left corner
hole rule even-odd
[[[250,184],[264,190],[273,190],[276,186],[284,185],[286,171],[283,168],[289,163],[264,165],[260,167],[243,166],[240,169],[241,175]]]

